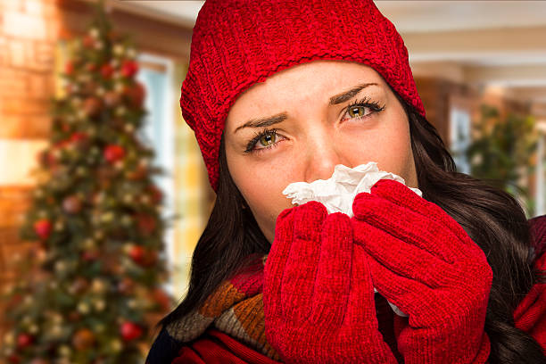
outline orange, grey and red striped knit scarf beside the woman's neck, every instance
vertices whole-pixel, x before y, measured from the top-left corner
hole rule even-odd
[[[203,335],[211,325],[272,360],[280,360],[266,341],[263,314],[263,268],[267,255],[252,256],[206,299],[201,307],[168,325],[174,339],[187,343]]]

